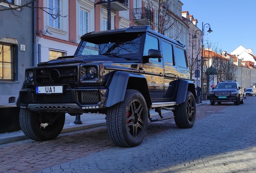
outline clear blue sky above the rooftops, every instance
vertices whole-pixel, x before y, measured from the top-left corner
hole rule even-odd
[[[204,40],[218,46],[227,53],[239,45],[252,48],[256,54],[256,0],[180,0],[182,11],[188,11],[198,20],[197,27],[202,30],[202,22],[211,25],[211,34]],[[205,25],[207,26],[207,25]],[[207,31],[209,28],[204,28]],[[208,32],[206,32],[208,33]]]

